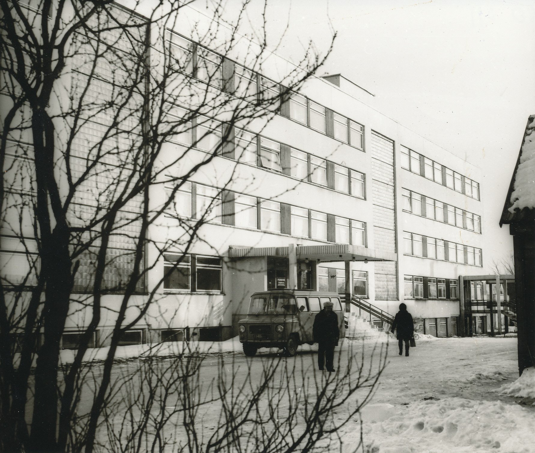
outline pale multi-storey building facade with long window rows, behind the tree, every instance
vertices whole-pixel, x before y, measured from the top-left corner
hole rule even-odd
[[[193,115],[186,102],[173,105],[170,115],[190,120],[167,140],[162,159],[186,150],[187,159],[150,188],[157,209],[179,184],[172,206],[151,226],[147,261],[157,265],[136,296],[155,292],[157,303],[124,344],[230,338],[251,293],[278,288],[338,291],[349,321],[358,311],[351,297],[392,315],[404,301],[416,328],[457,335],[459,277],[483,274],[487,260],[477,165],[376,110],[373,95],[350,77],[311,77],[299,93],[288,93],[279,75],[284,59],[270,55],[250,67],[238,50],[221,55],[187,29],[177,22],[162,36],[185,77],[237,100],[262,103],[265,93],[279,99],[269,121],[243,124],[228,123],[223,113]],[[105,87],[109,80],[101,78]],[[183,179],[184,168],[214,149],[217,156]],[[141,205],[133,200],[132,209]],[[194,227],[186,249],[181,238]],[[135,223],[128,228],[135,234]],[[126,256],[133,245],[120,236],[117,254]],[[112,266],[116,281],[123,267]],[[90,275],[90,266],[82,271]],[[83,281],[77,284],[83,293]],[[112,306],[120,295],[105,298]],[[106,316],[95,345],[106,344],[113,314]],[[81,311],[72,314],[65,347],[84,322]]]

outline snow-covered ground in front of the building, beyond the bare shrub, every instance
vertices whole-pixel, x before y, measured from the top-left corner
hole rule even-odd
[[[535,453],[535,370],[526,370],[518,379],[515,337],[421,335],[410,357],[398,356],[397,341],[386,335],[364,341],[345,339],[337,348],[337,366],[343,369],[343,352],[349,348],[371,356],[376,342],[388,346],[388,363],[377,392],[360,413],[366,453]],[[118,357],[172,356],[182,352],[182,346],[123,346]],[[190,343],[190,348],[233,353],[234,360],[243,364],[276,357],[276,350],[263,349],[257,357],[246,359],[237,338]],[[300,346],[303,363],[314,366],[316,350],[317,345]],[[105,348],[91,350],[87,359],[104,359],[106,352]],[[64,362],[72,357],[72,351],[62,352]],[[353,421],[339,433],[344,452],[353,451],[360,440],[360,420]]]

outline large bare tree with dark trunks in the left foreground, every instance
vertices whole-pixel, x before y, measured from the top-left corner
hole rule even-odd
[[[217,146],[198,158],[201,144],[212,144],[214,118],[226,126],[265,124],[281,98],[324,62],[310,43],[298,64],[304,70],[288,70],[280,94],[258,87],[247,99],[244,86],[243,97],[231,95],[226,59],[214,63],[208,48],[232,54],[247,3],[225,24],[222,41],[224,4],[214,4],[212,27],[194,24],[190,31],[200,43],[193,49],[173,45],[182,2],[160,0],[141,15],[109,1],[0,0],[4,451],[93,451],[113,399],[120,339],[157,303],[172,268],[150,291],[147,276],[170,247],[181,251],[180,265],[215,207],[209,203],[193,222],[177,217],[174,237],[151,235],[187,180],[233,141],[231,127],[223,127]],[[252,69],[269,54],[265,20],[255,29],[261,42],[246,49]],[[173,153],[170,141],[180,144]],[[170,177],[176,168],[179,176]],[[120,295],[120,303],[106,305],[109,294]],[[113,312],[110,348],[95,373],[83,358],[104,311]],[[81,313],[88,319],[77,353],[58,374],[67,316]],[[89,381],[91,406],[75,432]]]

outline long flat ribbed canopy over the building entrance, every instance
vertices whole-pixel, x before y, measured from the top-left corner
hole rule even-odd
[[[288,256],[289,247],[228,247],[229,258],[248,258],[251,256]],[[315,260],[322,262],[335,261],[396,261],[397,256],[392,252],[385,252],[362,245],[350,244],[322,244],[297,245],[297,259]]]

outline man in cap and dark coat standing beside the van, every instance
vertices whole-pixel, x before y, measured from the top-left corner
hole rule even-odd
[[[323,310],[314,319],[312,335],[314,335],[314,341],[318,343],[318,368],[323,369],[323,356],[325,356],[327,371],[334,371],[334,346],[338,343],[340,329],[338,316],[333,312],[332,302],[323,303]]]

